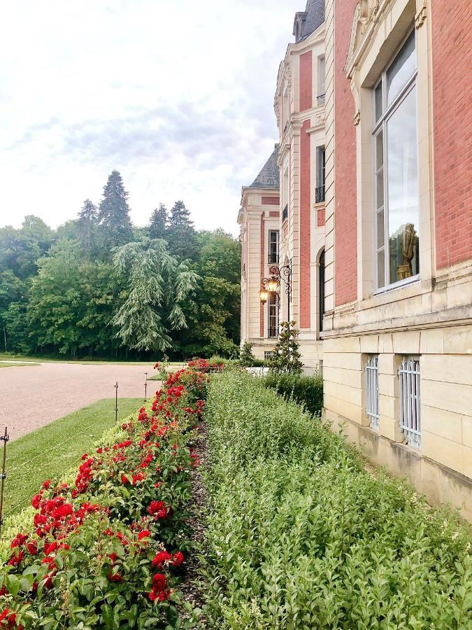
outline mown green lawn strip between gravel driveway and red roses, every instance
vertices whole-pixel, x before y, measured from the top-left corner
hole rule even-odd
[[[118,419],[142,404],[142,398],[118,398]],[[9,442],[3,516],[28,505],[44,479],[64,475],[114,423],[115,399],[104,398]]]

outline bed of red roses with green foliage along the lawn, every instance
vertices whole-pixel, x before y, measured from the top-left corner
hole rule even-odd
[[[188,447],[208,376],[170,374],[137,418],[83,454],[73,482],[45,481],[0,568],[0,628],[176,627],[189,550]],[[18,519],[21,524],[22,519]]]

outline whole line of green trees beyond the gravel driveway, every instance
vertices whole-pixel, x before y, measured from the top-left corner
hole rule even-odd
[[[69,358],[231,356],[241,253],[195,230],[182,201],[132,225],[122,176],[52,230],[34,215],[0,228],[0,349]]]

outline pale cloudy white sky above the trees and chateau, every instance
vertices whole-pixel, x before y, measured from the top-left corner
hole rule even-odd
[[[237,232],[277,141],[278,64],[305,0],[2,3],[0,226],[57,227],[118,169],[131,219],[183,199]]]

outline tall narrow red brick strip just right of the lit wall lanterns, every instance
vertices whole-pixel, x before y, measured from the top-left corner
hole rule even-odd
[[[300,328],[310,328],[310,120],[305,120],[300,136]]]

